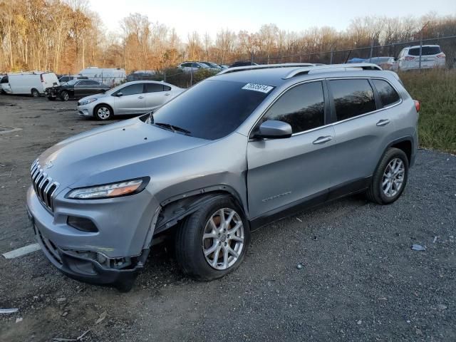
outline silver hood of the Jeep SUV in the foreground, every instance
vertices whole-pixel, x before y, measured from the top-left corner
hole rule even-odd
[[[134,118],[63,140],[43,152],[39,163],[62,190],[145,177],[146,164],[209,142]]]

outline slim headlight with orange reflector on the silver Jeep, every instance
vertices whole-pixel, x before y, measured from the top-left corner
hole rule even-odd
[[[68,192],[66,198],[100,199],[133,195],[144,190],[147,182],[149,182],[149,177],[140,178],[138,180],[125,180],[118,183],[98,185],[96,187],[81,187]]]

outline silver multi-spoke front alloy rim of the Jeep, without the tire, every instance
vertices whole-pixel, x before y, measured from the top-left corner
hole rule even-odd
[[[209,217],[202,237],[202,252],[214,269],[229,269],[244,248],[244,224],[234,209],[223,208]]]

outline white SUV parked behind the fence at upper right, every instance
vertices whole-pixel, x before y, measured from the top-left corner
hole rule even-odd
[[[423,45],[421,52],[421,68],[445,67],[445,53],[438,45]],[[398,69],[408,71],[420,68],[420,46],[403,48],[398,56]]]

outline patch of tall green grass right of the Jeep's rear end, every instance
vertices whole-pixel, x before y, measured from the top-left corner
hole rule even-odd
[[[422,147],[456,152],[456,70],[400,73],[408,93],[421,103]]]

